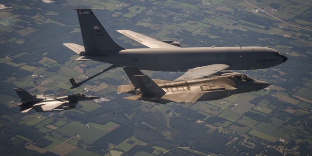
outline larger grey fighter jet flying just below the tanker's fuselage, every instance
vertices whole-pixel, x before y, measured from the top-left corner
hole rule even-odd
[[[271,85],[241,73],[224,73],[198,79],[167,81],[151,79],[136,67],[123,68],[132,84],[118,86],[118,94],[133,96],[129,100],[144,100],[156,103],[209,101],[258,91]]]

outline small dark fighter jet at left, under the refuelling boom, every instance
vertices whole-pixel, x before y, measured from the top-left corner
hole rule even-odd
[[[26,113],[31,109],[35,109],[36,112],[63,111],[76,108],[78,101],[99,98],[88,96],[83,93],[74,93],[59,98],[51,98],[54,97],[54,95],[32,96],[22,88],[15,88],[15,91],[22,102],[19,104],[21,113]]]

